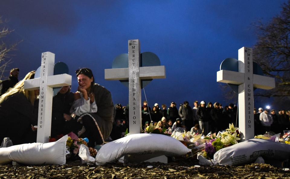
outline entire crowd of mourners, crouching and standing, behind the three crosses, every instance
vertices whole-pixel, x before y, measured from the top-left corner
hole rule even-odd
[[[29,72],[18,82],[19,69],[11,69],[9,79],[0,84],[0,141],[9,137],[14,145],[36,142],[39,90],[24,89],[24,81],[33,79],[35,71]],[[129,107],[117,104],[114,107],[111,93],[95,83],[92,70],[76,70],[78,90],[73,93],[64,86],[53,97],[51,137],[76,133],[89,138],[89,146],[102,144],[111,136],[119,139],[129,129]],[[194,107],[184,101],[179,107],[172,101],[170,106],[158,103],[152,109],[143,101],[142,127],[146,131],[152,123],[155,129],[173,132],[182,127],[192,133],[208,134],[227,129],[229,123],[238,127],[237,106],[215,102],[194,101]],[[290,129],[289,112],[286,110],[254,109],[255,135],[266,131],[283,133]],[[130,132],[130,131],[128,131]]]

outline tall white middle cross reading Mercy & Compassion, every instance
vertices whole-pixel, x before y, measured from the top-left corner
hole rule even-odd
[[[166,78],[165,66],[139,67],[139,40],[128,40],[129,68],[105,69],[106,80],[129,79],[129,130],[130,134],[141,132],[141,80]]]

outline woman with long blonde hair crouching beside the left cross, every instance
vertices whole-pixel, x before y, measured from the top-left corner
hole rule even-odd
[[[37,95],[39,90],[24,90],[24,81],[33,79],[35,71],[29,72],[23,80],[0,97],[0,141],[9,137],[13,145],[36,141]],[[36,104],[36,105],[34,105]]]

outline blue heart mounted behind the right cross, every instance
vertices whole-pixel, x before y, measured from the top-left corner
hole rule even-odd
[[[234,59],[234,58],[224,59],[224,61],[221,62],[220,70],[228,70],[228,71],[238,72],[239,71],[239,61],[237,59]],[[263,75],[262,68],[256,62],[253,62],[253,74]],[[227,85],[229,85],[235,93],[238,93],[238,86],[239,85],[234,85],[234,84],[227,84]],[[255,89],[256,88],[254,88],[254,90]]]

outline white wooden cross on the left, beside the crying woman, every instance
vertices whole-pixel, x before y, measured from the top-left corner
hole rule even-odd
[[[24,81],[24,89],[39,91],[37,142],[47,143],[51,129],[51,112],[53,87],[68,86],[72,84],[72,76],[68,74],[53,75],[54,54],[42,53],[40,78]]]

